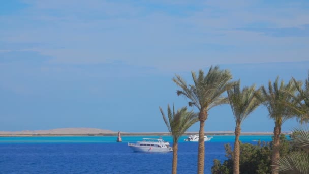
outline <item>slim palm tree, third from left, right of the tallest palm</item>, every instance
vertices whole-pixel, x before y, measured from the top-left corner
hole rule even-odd
[[[233,89],[227,91],[229,103],[231,105],[234,119],[236,122],[235,128],[235,142],[234,142],[234,167],[233,173],[239,174],[239,156],[240,156],[240,144],[239,136],[241,132],[241,123],[248,117],[260,104],[260,101],[255,97],[255,85],[250,87],[245,86],[240,89],[240,80],[235,83]]]

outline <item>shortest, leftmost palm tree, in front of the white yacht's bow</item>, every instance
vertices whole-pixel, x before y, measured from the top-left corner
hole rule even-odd
[[[161,107],[160,111],[163,120],[173,137],[173,166],[172,173],[177,173],[177,151],[178,151],[178,139],[188,130],[194,123],[198,121],[197,114],[193,111],[188,112],[187,107],[182,107],[175,113],[173,105],[173,112],[169,105],[167,105],[167,117],[165,116]]]

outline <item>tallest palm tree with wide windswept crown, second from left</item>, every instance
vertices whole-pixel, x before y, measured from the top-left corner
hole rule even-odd
[[[218,105],[227,103],[228,100],[222,94],[232,88],[232,75],[228,70],[220,70],[218,66],[210,67],[206,76],[202,70],[196,76],[192,71],[193,85],[187,85],[187,82],[179,75],[173,78],[173,81],[181,88],[177,90],[177,95],[183,95],[189,100],[189,106],[195,106],[199,109],[198,118],[200,121],[199,147],[198,147],[198,173],[204,173],[205,160],[205,141],[204,125],[208,118],[208,111]]]

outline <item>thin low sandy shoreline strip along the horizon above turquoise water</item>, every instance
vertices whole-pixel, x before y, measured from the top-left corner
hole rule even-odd
[[[282,132],[289,134],[291,132]],[[183,135],[194,135],[198,132],[186,132]],[[121,132],[121,136],[168,136],[169,132]],[[234,135],[233,131],[205,132],[205,135]],[[273,135],[273,132],[242,132],[241,135]],[[118,136],[118,133],[88,133],[88,134],[0,134],[0,137],[36,137],[36,136]]]

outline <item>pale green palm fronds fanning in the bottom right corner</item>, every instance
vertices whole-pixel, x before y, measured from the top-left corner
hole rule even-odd
[[[303,151],[293,152],[277,161],[276,172],[309,173],[309,131],[308,129],[295,128],[291,142]]]

